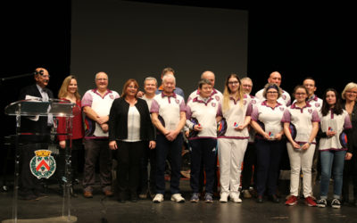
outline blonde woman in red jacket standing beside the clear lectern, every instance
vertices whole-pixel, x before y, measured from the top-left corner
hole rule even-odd
[[[64,184],[62,182],[62,176],[64,174],[64,159],[65,159],[65,148],[66,146],[70,146],[71,148],[71,182],[72,183],[79,183],[78,177],[78,170],[79,170],[79,160],[84,159],[84,157],[79,157],[80,151],[83,149],[82,147],[82,139],[84,136],[84,128],[83,128],[83,121],[82,121],[82,112],[81,112],[81,101],[80,95],[78,92],[78,84],[77,78],[73,75],[64,78],[62,87],[58,93],[58,98],[64,101],[68,101],[71,103],[75,103],[76,106],[73,107],[73,118],[72,118],[72,136],[71,139],[64,135],[68,133],[69,123],[67,123],[66,118],[60,117],[58,118],[58,128],[57,133],[58,141],[60,146],[60,170],[59,176],[61,179],[60,186]],[[71,187],[71,195],[75,196],[73,189]]]

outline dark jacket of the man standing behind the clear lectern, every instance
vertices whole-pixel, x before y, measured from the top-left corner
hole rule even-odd
[[[49,98],[54,98],[54,94],[52,91],[48,88],[45,88],[46,93]],[[26,95],[31,95],[35,97],[42,98],[41,93],[38,91],[38,88],[35,85],[31,85],[28,87],[24,87],[20,91],[19,95],[19,100],[25,100]],[[50,133],[51,127],[47,126],[47,117],[46,116],[40,116],[37,121],[35,120],[29,120],[26,117],[21,117],[21,133],[37,133],[39,135],[35,136],[21,136],[21,141],[26,142],[26,141],[31,141],[31,142],[43,142],[46,141],[47,138],[49,138],[49,133]]]

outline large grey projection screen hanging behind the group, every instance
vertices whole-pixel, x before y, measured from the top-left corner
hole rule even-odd
[[[245,76],[248,12],[128,1],[72,2],[71,73],[83,94],[94,87],[95,73],[109,75],[121,93],[129,78],[140,86],[145,77],[161,83],[163,68],[176,71],[177,86],[187,97],[204,70],[216,74],[216,88],[234,72]]]

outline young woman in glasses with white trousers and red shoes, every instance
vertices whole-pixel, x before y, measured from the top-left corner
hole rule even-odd
[[[316,134],[319,131],[319,114],[310,103],[306,102],[307,89],[297,86],[294,90],[295,103],[284,112],[284,132],[288,142],[287,153],[290,160],[290,197],[286,205],[295,205],[303,170],[303,196],[308,206],[316,206],[312,199],[311,167],[316,147]]]

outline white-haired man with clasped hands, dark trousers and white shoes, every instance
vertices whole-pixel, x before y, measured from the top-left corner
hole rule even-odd
[[[186,123],[186,104],[182,96],[175,94],[176,79],[173,75],[162,78],[162,92],[154,96],[150,111],[157,128],[156,136],[156,195],[153,202],[162,202],[165,193],[165,163],[170,155],[171,201],[185,202],[179,194],[179,179],[181,177],[181,153],[183,136],[182,128]]]

